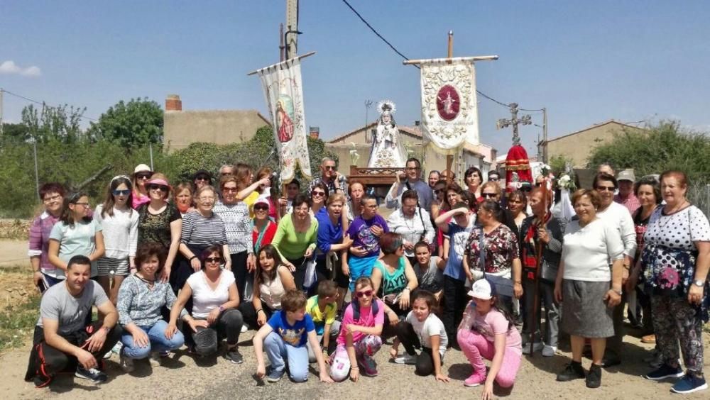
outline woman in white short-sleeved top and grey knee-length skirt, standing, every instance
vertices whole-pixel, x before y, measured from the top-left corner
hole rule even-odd
[[[614,335],[612,311],[621,303],[623,241],[616,227],[596,216],[600,204],[594,190],[579,189],[572,195],[579,220],[569,223],[564,233],[555,281],[555,298],[562,301],[562,330],[569,333],[572,345],[572,362],[557,380],[586,377],[589,388],[601,386],[606,338]],[[581,366],[586,338],[591,340],[589,374]]]

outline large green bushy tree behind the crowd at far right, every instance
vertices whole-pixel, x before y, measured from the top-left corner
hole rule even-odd
[[[662,121],[640,132],[624,130],[595,148],[588,166],[607,162],[616,170],[633,168],[637,177],[682,170],[691,182],[710,182],[709,155],[706,133],[683,130],[677,121]]]

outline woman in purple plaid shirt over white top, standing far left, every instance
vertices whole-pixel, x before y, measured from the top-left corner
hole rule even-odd
[[[32,280],[41,292],[50,286],[62,282],[57,277],[60,272],[49,262],[49,237],[52,228],[62,216],[65,189],[56,182],[45,183],[40,187],[40,198],[45,207],[44,212],[32,221],[28,255],[34,271]]]

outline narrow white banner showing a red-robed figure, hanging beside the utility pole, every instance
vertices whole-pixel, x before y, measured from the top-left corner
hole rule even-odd
[[[281,183],[288,184],[294,178],[296,166],[310,179],[300,61],[292,58],[262,68],[256,73],[261,78],[264,97],[273,121]]]

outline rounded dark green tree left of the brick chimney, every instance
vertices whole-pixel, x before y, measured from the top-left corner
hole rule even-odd
[[[131,99],[119,101],[91,124],[94,140],[110,140],[123,148],[134,148],[163,141],[163,109],[155,101]]]

